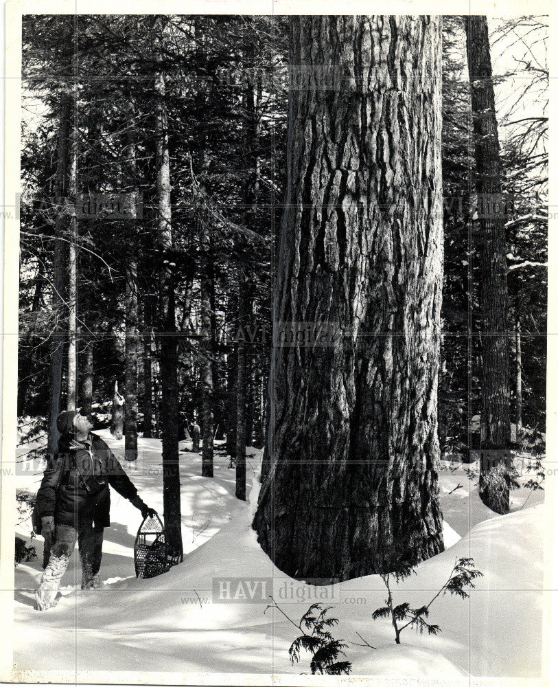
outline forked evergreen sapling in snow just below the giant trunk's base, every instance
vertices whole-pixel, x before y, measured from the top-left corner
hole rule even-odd
[[[461,598],[467,598],[469,594],[465,592],[465,587],[474,587],[473,580],[482,577],[483,573],[476,570],[473,565],[473,559],[461,558],[456,560],[450,577],[447,579],[443,587],[439,592],[428,602],[428,604],[421,606],[416,609],[412,609],[408,602],[401,603],[397,606],[393,602],[393,592],[390,587],[390,578],[395,580],[395,583],[399,583],[400,580],[408,578],[411,574],[417,574],[415,566],[404,567],[396,572],[388,572],[386,574],[380,574],[380,577],[384,581],[384,585],[388,590],[388,598],[386,598],[386,605],[377,608],[372,613],[372,619],[378,620],[378,618],[391,618],[391,624],[395,630],[395,643],[400,644],[400,636],[402,631],[406,627],[415,627],[417,631],[421,634],[424,630],[428,631],[429,635],[437,635],[441,632],[441,627],[436,624],[430,624],[426,621],[428,618],[428,613],[432,603],[440,596],[445,596],[446,592],[454,594],[456,596],[461,596]]]

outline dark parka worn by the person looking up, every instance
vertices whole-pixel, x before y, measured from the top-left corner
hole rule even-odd
[[[40,518],[54,515],[57,525],[110,526],[109,484],[125,499],[137,496],[137,489],[100,437],[89,434],[88,440],[80,442],[61,436],[37,492],[39,523]]]

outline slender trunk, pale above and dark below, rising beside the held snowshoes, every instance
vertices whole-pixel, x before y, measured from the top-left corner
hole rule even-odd
[[[157,234],[162,251],[172,250],[170,199],[170,156],[168,120],[165,103],[165,79],[156,76],[156,192],[158,200]],[[178,342],[174,304],[174,274],[170,264],[162,264],[159,273],[161,312],[159,326],[159,369],[161,379],[161,442],[163,444],[163,508],[168,552],[182,559],[181,482],[178,464]]]

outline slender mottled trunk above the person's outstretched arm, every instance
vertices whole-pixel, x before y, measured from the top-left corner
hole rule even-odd
[[[130,108],[131,109],[131,108]],[[133,126],[133,114],[129,126]],[[131,178],[130,190],[136,190],[136,142],[135,131],[128,129],[126,136],[127,170]],[[126,381],[124,382],[124,456],[126,460],[137,460],[137,356],[138,356],[138,306],[137,306],[137,225],[132,219],[128,223],[128,255],[126,256],[126,295],[125,308],[125,362]]]

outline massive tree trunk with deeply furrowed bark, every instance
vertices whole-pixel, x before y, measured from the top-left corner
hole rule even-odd
[[[283,572],[346,580],[443,550],[441,36],[430,16],[294,16],[291,32],[270,466],[253,525]]]

